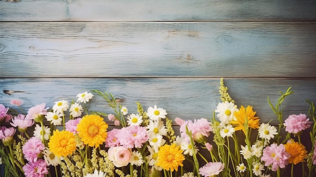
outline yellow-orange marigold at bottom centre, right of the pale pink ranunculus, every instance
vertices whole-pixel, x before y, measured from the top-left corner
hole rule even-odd
[[[183,150],[180,149],[180,146],[176,146],[175,143],[171,146],[168,144],[161,146],[155,164],[166,170],[178,171],[178,166],[183,166],[182,162],[185,159],[182,153]]]

